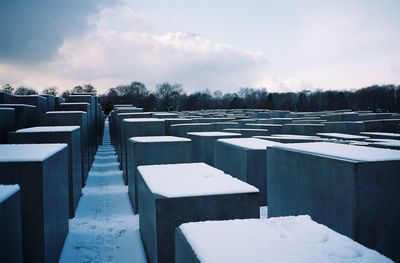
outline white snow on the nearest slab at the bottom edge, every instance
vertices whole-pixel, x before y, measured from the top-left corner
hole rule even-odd
[[[200,262],[392,262],[309,216],[182,224]]]

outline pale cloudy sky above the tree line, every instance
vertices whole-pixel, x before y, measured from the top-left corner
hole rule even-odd
[[[398,0],[1,0],[0,84],[188,93],[400,84]]]

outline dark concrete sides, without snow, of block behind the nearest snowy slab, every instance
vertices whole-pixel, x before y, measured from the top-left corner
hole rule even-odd
[[[178,167],[176,172],[182,173]],[[258,192],[167,198],[153,193],[143,176],[138,182],[139,229],[149,262],[175,262],[175,228],[183,223],[260,216]]]

